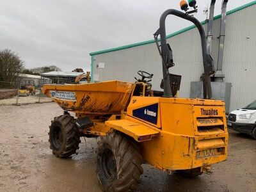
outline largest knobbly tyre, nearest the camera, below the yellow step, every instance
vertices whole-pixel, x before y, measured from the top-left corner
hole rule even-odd
[[[118,132],[100,138],[97,176],[103,191],[133,191],[140,183],[142,157],[138,143]]]

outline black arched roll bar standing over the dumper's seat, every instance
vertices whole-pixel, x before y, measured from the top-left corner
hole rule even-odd
[[[203,84],[204,84],[204,99],[212,99],[212,89],[211,89],[211,74],[214,74],[214,65],[213,60],[210,54],[207,53],[206,46],[206,37],[205,31],[202,27],[202,24],[193,16],[188,15],[188,13],[182,13],[178,10],[166,10],[160,18],[160,28],[157,29],[156,33],[154,33],[154,38],[157,44],[157,49],[162,58],[163,64],[163,83],[164,83],[164,97],[172,97],[172,89],[170,85],[169,78],[169,70],[168,68],[173,67],[173,56],[172,49],[169,44],[166,43],[166,28],[165,28],[165,20],[168,15],[175,15],[182,19],[189,20],[193,22],[198,29],[201,36],[201,44],[202,44],[202,54],[203,54],[203,63],[204,63],[204,74],[203,74]],[[158,44],[157,37],[160,35],[161,45]],[[161,49],[160,49],[161,47]]]

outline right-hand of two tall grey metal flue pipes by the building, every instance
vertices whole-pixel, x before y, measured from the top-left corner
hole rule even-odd
[[[223,52],[224,43],[226,35],[226,12],[227,12],[228,0],[222,1],[221,6],[221,22],[220,22],[220,37],[219,37],[219,47],[218,47],[218,62],[216,73],[214,74],[214,81],[223,82],[225,74],[223,73]]]

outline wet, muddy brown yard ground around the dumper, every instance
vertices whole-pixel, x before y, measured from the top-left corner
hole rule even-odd
[[[96,140],[81,138],[77,155],[59,159],[48,143],[49,125],[62,115],[54,102],[0,106],[0,191],[100,191]],[[195,179],[143,164],[136,191],[256,191],[256,140],[230,131],[228,160]]]

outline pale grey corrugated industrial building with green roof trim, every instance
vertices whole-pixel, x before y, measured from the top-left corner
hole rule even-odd
[[[218,60],[221,15],[214,17],[211,56]],[[246,106],[256,99],[256,1],[227,12],[223,72],[224,81],[231,83],[230,111]],[[205,31],[207,22],[202,22]],[[157,26],[156,26],[157,28]],[[179,97],[189,98],[193,81],[200,81],[203,72],[200,35],[195,26],[167,36],[172,47],[172,74],[182,76]],[[152,88],[161,90],[163,78],[161,57],[154,40],[124,45],[104,51],[91,52],[92,81],[118,79],[134,82],[138,70],[154,74]]]

